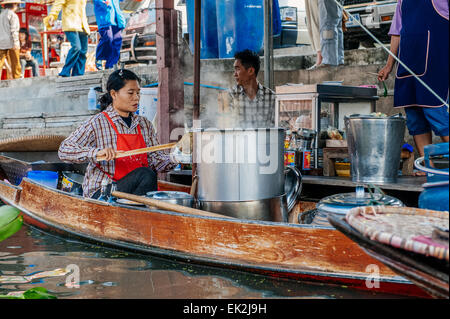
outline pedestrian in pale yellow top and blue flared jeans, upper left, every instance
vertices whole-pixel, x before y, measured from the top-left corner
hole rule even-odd
[[[86,0],[56,0],[44,23],[51,28],[62,9],[62,29],[71,48],[60,76],[83,75],[88,49],[89,24],[86,17]]]

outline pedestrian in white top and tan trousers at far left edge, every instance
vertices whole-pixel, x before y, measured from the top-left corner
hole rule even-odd
[[[16,14],[20,0],[4,0],[0,2],[4,10],[0,12],[0,74],[5,59],[11,64],[11,73],[14,79],[22,76],[20,67],[20,22]]]

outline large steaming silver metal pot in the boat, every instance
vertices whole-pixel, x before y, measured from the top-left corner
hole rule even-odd
[[[237,218],[286,222],[301,190],[301,178],[298,171],[289,171],[296,181],[291,178],[285,189],[284,137],[281,128],[194,131],[200,208]]]

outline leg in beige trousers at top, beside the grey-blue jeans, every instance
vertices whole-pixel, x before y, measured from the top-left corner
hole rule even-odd
[[[315,69],[322,64],[322,51],[320,48],[319,0],[305,0],[306,27],[308,28],[311,47],[316,52],[316,63],[309,68]]]

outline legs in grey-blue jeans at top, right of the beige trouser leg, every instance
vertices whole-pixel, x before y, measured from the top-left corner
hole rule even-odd
[[[319,0],[320,46],[322,64],[344,64],[344,32],[342,8],[335,0]]]

